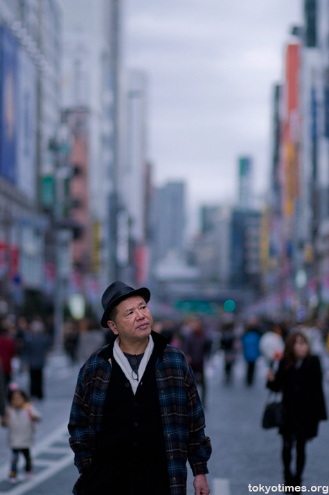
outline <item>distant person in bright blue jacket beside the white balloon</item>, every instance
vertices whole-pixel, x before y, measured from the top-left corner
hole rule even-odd
[[[242,335],[241,340],[244,360],[247,363],[246,384],[247,386],[251,386],[254,384],[256,361],[260,356],[260,327],[256,316],[249,318],[246,330]]]

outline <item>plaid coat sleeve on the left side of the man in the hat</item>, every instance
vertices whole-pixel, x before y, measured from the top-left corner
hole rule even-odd
[[[74,456],[74,464],[79,473],[91,464],[91,447],[89,440],[89,402],[88,382],[85,376],[85,367],[82,367],[78,376],[77,386],[73,397],[69,420],[70,446]]]

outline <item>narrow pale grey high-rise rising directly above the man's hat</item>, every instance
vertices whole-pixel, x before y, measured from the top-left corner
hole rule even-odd
[[[118,275],[134,284],[148,278],[147,76],[126,73],[124,146],[118,168]]]

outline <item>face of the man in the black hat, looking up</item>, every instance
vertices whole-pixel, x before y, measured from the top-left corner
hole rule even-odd
[[[145,300],[141,296],[132,296],[117,305],[115,321],[109,321],[108,325],[114,334],[120,336],[121,341],[132,343],[148,338],[152,323]]]

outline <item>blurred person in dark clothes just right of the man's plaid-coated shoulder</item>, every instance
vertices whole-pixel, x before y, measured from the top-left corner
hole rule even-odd
[[[202,386],[202,404],[206,404],[206,378],[204,363],[211,351],[202,320],[195,316],[189,323],[190,331],[184,335],[181,350],[185,353],[188,364],[195,374],[195,381]]]

